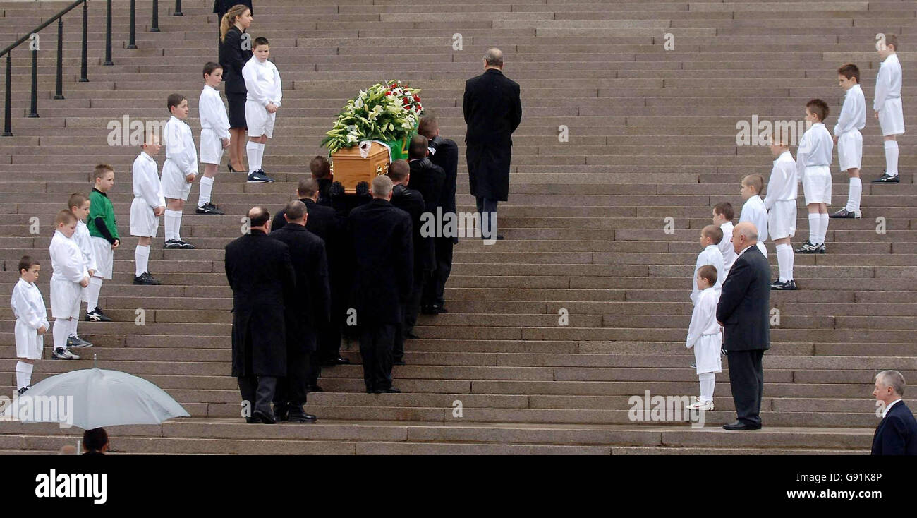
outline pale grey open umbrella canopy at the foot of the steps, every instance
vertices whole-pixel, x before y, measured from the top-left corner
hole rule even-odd
[[[172,417],[191,415],[169,394],[143,378],[106,369],[80,369],[41,380],[21,396],[57,398],[72,396],[72,422],[84,430],[117,424],[160,424]],[[61,399],[64,398],[64,399]],[[38,404],[38,403],[36,403]],[[23,423],[62,423],[58,415],[23,415]]]

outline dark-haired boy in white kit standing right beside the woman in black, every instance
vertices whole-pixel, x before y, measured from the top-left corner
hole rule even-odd
[[[283,92],[281,74],[268,57],[271,45],[266,38],[256,38],[252,46],[254,56],[242,67],[242,77],[248,90],[245,101],[245,120],[249,126],[249,182],[273,182],[261,169],[264,145],[274,135],[277,108],[281,107]]]

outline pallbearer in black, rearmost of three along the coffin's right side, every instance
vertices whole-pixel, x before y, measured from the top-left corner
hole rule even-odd
[[[433,268],[433,238],[423,236],[422,218],[428,205],[424,196],[414,189],[407,187],[411,179],[410,168],[404,160],[395,160],[389,166],[388,176],[392,179],[392,205],[411,215],[411,244],[414,247],[414,283],[411,294],[403,301],[402,312],[404,320],[399,325],[395,335],[395,345],[392,351],[392,361],[396,365],[404,365],[404,340],[416,338],[414,324],[417,323],[417,313],[420,311],[420,296],[424,290],[424,278]]]

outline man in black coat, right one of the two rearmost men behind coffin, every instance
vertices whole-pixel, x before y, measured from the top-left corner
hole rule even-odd
[[[303,405],[320,372],[316,336],[327,326],[331,314],[325,241],[306,230],[308,214],[303,202],[286,204],[283,213],[287,224],[272,231],[271,237],[290,248],[296,298],[286,308],[287,375],[277,388],[274,415],[278,421],[311,423],[315,415],[305,413]]]

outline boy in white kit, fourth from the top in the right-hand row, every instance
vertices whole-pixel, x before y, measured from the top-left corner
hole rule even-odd
[[[790,237],[796,235],[796,160],[790,153],[790,139],[783,128],[774,128],[770,152],[777,157],[770,170],[768,195],[768,236],[777,245],[777,265],[780,276],[770,285],[771,290],[795,290],[793,280],[793,248]]]

